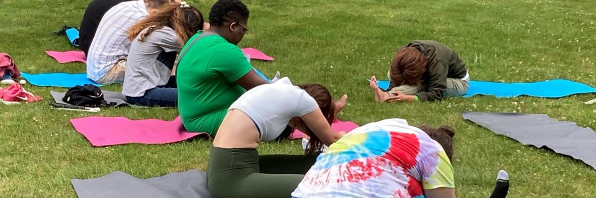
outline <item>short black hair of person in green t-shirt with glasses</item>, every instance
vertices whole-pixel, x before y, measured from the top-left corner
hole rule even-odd
[[[219,0],[213,4],[209,12],[209,23],[213,26],[222,26],[225,22],[248,18],[249,8],[240,0]]]

